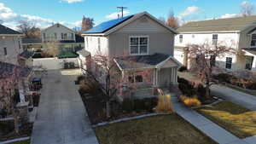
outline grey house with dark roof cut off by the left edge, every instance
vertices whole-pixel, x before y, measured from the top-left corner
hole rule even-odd
[[[18,58],[23,52],[21,37],[23,34],[0,25],[0,61],[18,65]]]

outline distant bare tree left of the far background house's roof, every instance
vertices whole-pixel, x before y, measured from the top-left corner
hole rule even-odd
[[[25,37],[28,38],[39,38],[41,37],[41,31],[38,27],[36,27],[33,23],[20,20],[19,26],[17,26],[18,31],[25,34]]]

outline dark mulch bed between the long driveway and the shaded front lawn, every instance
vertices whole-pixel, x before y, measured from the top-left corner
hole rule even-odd
[[[118,101],[111,101],[111,118],[106,116],[106,102],[100,90],[88,94],[79,92],[84,102],[84,107],[88,112],[90,123],[98,124],[102,122],[113,121],[119,118],[134,117],[142,114],[152,113],[152,111],[125,112],[122,110]]]

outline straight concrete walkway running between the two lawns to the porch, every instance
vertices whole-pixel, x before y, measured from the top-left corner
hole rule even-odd
[[[178,115],[187,120],[195,128],[201,130],[204,134],[217,141],[219,144],[255,144],[253,138],[247,140],[239,139],[236,135],[232,135],[229,131],[224,130],[218,124],[214,124],[211,120],[203,117],[195,110],[184,107],[181,103],[177,102],[177,97],[173,96],[172,105]]]

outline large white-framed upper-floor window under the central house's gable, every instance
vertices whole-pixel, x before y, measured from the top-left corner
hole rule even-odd
[[[130,54],[148,54],[148,37],[130,37]]]

